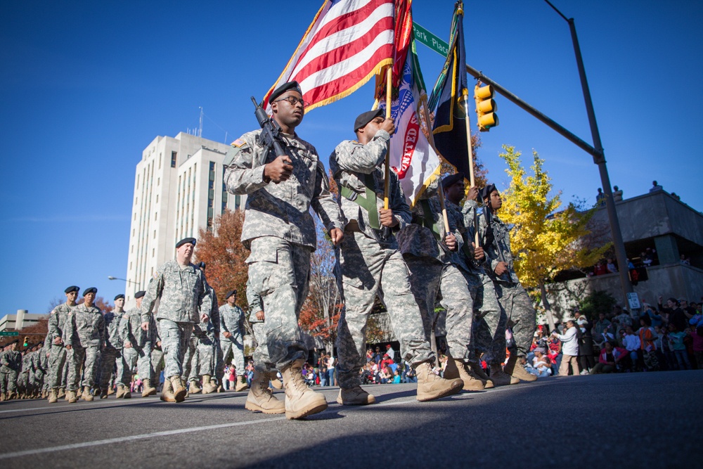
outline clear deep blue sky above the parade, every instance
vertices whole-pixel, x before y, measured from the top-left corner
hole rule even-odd
[[[703,208],[697,158],[703,3],[554,0],[576,20],[612,184],[626,198],[657,179]],[[0,4],[0,224],[6,268],[0,316],[44,313],[67,285],[124,291],[134,167],[157,135],[198,126],[231,141],[256,122],[263,96],[321,0],[4,1]],[[415,21],[449,39],[453,1],[415,0]],[[467,62],[591,142],[567,23],[541,0],[465,1]],[[442,58],[418,45],[427,86]],[[472,83],[472,79],[470,79]],[[328,155],[373,90],[305,117],[299,134]],[[595,202],[591,157],[498,96],[501,124],[479,157],[507,184],[507,143],[536,149],[556,190]],[[227,134],[226,134],[227,132]],[[698,137],[696,137],[698,135]],[[529,162],[529,160],[527,160]],[[8,287],[8,288],[7,288]]]

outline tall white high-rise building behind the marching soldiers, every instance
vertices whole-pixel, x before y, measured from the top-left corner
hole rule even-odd
[[[222,161],[229,146],[191,134],[157,136],[143,150],[134,176],[125,300],[146,290],[157,267],[174,259],[176,242],[198,237],[225,208],[243,207],[229,195]]]

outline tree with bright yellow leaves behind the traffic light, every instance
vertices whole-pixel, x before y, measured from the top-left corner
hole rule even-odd
[[[522,153],[506,145],[503,150],[505,153],[498,156],[508,165],[505,172],[510,176],[510,186],[501,194],[501,219],[513,226],[510,247],[515,273],[525,288],[540,289],[553,329],[545,284],[553,281],[560,271],[592,266],[610,245],[591,248],[583,243],[589,233],[586,224],[594,209],[579,210],[574,203],[562,208],[561,191],[550,195],[553,185],[543,169],[544,160],[535,150],[532,150],[531,174],[522,166]]]

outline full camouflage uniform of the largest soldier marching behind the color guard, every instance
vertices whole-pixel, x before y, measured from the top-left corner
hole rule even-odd
[[[200,322],[200,311],[209,314],[212,308],[206,285],[200,269],[193,264],[181,269],[178,262],[172,260],[159,267],[146,288],[141,303],[141,321],[150,321],[151,311],[160,297],[156,319],[160,321],[167,378],[183,374],[183,354],[193,332],[193,323]]]

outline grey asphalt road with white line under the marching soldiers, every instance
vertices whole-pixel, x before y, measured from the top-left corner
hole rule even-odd
[[[251,413],[245,392],[0,403],[0,467],[695,468],[703,371],[557,377],[415,400],[414,385],[369,387],[378,404],[307,420]],[[280,394],[280,392],[277,392]],[[281,395],[280,398],[283,398]]]

